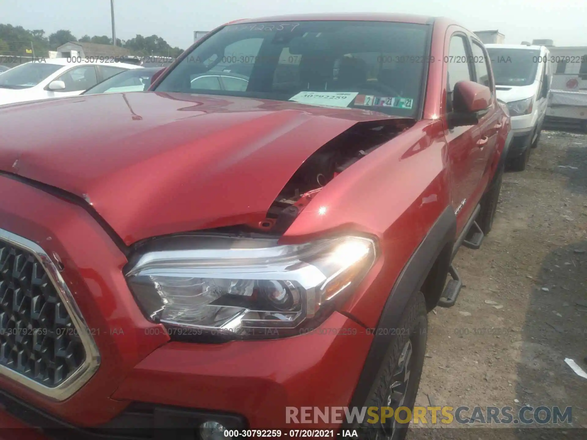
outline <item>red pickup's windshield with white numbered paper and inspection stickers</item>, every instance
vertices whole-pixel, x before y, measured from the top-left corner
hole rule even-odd
[[[155,90],[415,117],[428,66],[428,32],[427,25],[394,22],[229,25],[188,53]],[[227,75],[247,83],[227,81]]]

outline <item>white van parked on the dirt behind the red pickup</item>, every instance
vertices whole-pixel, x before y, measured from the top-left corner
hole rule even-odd
[[[538,145],[548,106],[552,63],[545,46],[485,45],[495,79],[497,99],[510,110],[514,138],[508,150],[507,168],[522,171],[531,148]]]

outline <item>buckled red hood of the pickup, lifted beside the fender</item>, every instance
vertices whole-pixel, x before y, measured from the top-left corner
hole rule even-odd
[[[130,245],[261,221],[309,155],[381,119],[397,118],[157,92],[12,104],[0,107],[0,170],[82,197]]]

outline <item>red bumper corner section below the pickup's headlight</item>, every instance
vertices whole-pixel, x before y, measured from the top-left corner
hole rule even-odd
[[[287,406],[349,404],[372,338],[335,312],[289,339],[174,342],[141,361],[113,398],[237,412],[251,427],[284,428]]]

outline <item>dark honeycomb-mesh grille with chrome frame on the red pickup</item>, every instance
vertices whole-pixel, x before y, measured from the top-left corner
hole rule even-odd
[[[55,265],[36,243],[0,229],[0,374],[62,400],[98,364]]]

